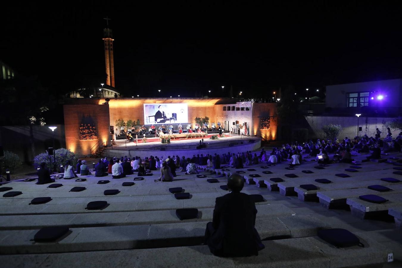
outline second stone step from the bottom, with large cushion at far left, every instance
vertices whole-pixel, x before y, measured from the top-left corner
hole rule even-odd
[[[2,254],[32,254],[201,245],[205,227],[206,222],[182,222],[72,228],[71,233],[57,243],[31,241],[37,229],[0,231],[0,251]],[[308,215],[257,218],[255,227],[261,239],[272,240],[314,236],[326,225]]]

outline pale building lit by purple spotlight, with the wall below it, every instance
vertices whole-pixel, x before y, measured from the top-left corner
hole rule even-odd
[[[328,124],[343,127],[340,137],[375,136],[377,128],[385,137],[387,122],[400,115],[402,79],[392,79],[326,86],[324,112],[307,115],[306,120],[316,137],[324,137],[321,128]],[[393,137],[399,133],[391,131]]]

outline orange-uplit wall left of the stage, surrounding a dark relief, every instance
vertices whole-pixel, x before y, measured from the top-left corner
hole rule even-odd
[[[98,139],[80,140],[81,123],[94,124]],[[66,148],[78,153],[79,156],[90,155],[90,149],[98,142],[110,143],[109,105],[64,105],[64,129]]]

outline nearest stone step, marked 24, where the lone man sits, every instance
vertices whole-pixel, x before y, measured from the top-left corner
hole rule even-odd
[[[139,249],[72,252],[56,254],[2,255],[4,267],[31,264],[36,267],[380,267],[392,252],[363,233],[355,233],[365,247],[338,249],[320,238],[301,237],[263,241],[265,249],[258,256],[220,258],[205,245]],[[111,258],[113,256],[113,258]]]

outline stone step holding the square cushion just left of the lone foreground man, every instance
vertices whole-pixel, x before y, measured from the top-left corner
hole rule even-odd
[[[105,212],[109,207],[98,211],[84,211],[82,213],[66,213],[53,211],[53,214],[44,215],[10,215],[0,217],[0,230],[37,229],[46,226],[68,225],[70,227],[96,227],[116,225],[144,225],[159,223],[180,223],[176,210],[163,211],[131,211]],[[294,216],[295,212],[285,205],[258,205],[257,217]],[[57,214],[59,213],[59,214]],[[211,221],[213,208],[199,209],[197,219],[192,221]]]

